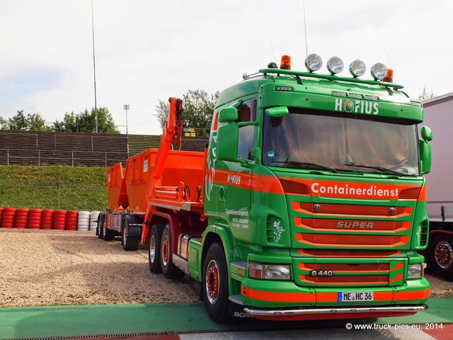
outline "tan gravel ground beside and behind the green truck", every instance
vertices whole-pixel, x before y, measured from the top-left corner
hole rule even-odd
[[[147,249],[94,232],[0,229],[0,307],[196,302],[200,283],[149,273]],[[453,296],[453,282],[427,275],[432,297]]]

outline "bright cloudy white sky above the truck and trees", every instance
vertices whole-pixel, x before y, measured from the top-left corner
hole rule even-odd
[[[451,0],[0,0],[0,117],[91,110],[96,79],[122,133],[160,135],[159,99],[214,94],[281,55],[305,71],[306,52],[322,73],[334,55],[345,77],[352,60],[365,79],[383,62],[409,96],[441,96],[453,92],[452,20]]]

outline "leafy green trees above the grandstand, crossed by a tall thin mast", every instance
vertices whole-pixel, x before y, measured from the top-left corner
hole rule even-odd
[[[98,108],[97,111],[98,132],[120,133],[108,108]],[[96,132],[96,112],[93,108],[91,112],[86,109],[77,115],[74,112],[64,113],[61,122],[55,120],[53,129],[57,132]]]

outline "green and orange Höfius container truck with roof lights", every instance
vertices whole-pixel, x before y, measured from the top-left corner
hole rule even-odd
[[[223,91],[205,152],[180,146],[170,98],[159,149],[107,170],[98,236],[147,244],[151,273],[200,281],[210,317],[411,315],[428,306],[432,132],[384,64],[282,57]]]

